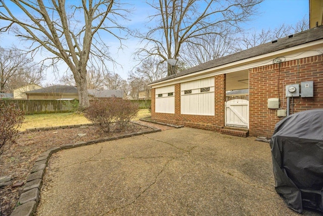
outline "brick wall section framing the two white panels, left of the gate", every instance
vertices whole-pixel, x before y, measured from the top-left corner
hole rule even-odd
[[[154,92],[151,91],[151,117],[154,120],[171,123],[183,124],[189,127],[220,131],[224,126],[224,105],[226,100],[226,76],[218,75],[214,77],[214,116],[209,115],[187,115],[181,114],[181,84],[175,84],[175,114],[156,113],[154,109]]]

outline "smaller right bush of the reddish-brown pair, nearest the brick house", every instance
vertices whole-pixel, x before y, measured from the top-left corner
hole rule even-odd
[[[139,104],[130,100],[117,99],[114,100],[115,106],[118,108],[115,113],[115,119],[119,129],[123,130],[129,121],[136,117],[139,111]]]

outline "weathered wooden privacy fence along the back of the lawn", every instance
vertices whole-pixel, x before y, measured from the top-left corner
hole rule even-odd
[[[151,100],[131,100],[139,108],[150,108]],[[14,103],[27,115],[41,113],[74,112],[78,109],[78,100],[4,100],[5,105]]]

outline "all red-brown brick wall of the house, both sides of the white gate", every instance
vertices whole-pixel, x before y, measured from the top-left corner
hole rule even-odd
[[[276,109],[267,108],[268,98],[279,98],[280,108],[287,108],[285,86],[314,81],[313,98],[293,98],[290,114],[308,109],[323,109],[322,55],[249,69],[249,135],[271,137],[274,127],[283,118]],[[219,131],[225,125],[226,76],[214,76],[214,116],[182,115],[180,84],[175,85],[175,114],[155,113],[151,98],[153,119],[185,126]],[[154,96],[154,89],[152,89]]]

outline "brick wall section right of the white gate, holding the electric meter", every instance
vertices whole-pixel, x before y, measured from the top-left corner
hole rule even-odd
[[[322,55],[272,64],[249,70],[249,135],[271,137],[277,117],[275,109],[267,108],[268,98],[279,98],[280,108],[287,108],[286,85],[314,81],[313,98],[293,98],[290,114],[323,108]],[[291,100],[292,101],[292,100]]]

